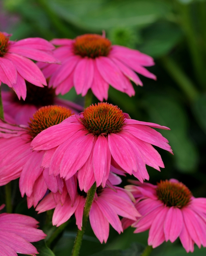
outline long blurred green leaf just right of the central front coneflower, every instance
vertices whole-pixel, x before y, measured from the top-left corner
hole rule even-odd
[[[168,96],[148,96],[144,102],[152,122],[169,127],[158,130],[169,140],[176,167],[181,172],[194,172],[198,154],[187,131],[187,114],[175,99]]]

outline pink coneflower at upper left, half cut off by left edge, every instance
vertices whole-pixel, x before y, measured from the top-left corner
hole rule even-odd
[[[0,32],[0,85],[1,82],[7,84],[19,99],[25,99],[25,80],[39,87],[46,85],[41,70],[29,58],[47,63],[57,63],[58,60],[53,56],[54,46],[45,39],[9,41],[10,36]]]

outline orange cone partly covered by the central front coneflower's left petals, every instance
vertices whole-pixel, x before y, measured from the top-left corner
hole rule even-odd
[[[62,106],[45,106],[38,109],[33,118],[30,118],[29,134],[32,138],[55,124],[60,124],[64,119],[73,115],[72,110]]]

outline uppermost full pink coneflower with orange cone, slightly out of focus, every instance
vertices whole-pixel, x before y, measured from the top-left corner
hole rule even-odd
[[[73,86],[77,94],[87,94],[89,88],[100,100],[108,98],[109,85],[115,89],[135,94],[130,82],[142,86],[142,81],[134,72],[156,79],[147,66],[154,65],[153,59],[137,50],[124,46],[112,45],[104,36],[86,34],[71,39],[53,39],[54,56],[62,65],[42,64],[42,72],[46,78],[51,77],[49,86],[57,88],[56,93],[67,93]],[[134,71],[133,71],[134,70]]]

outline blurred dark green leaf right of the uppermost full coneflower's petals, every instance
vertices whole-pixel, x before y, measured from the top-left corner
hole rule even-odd
[[[154,58],[166,55],[177,45],[183,33],[176,24],[171,22],[157,22],[144,29],[142,33],[144,43],[138,50]]]

